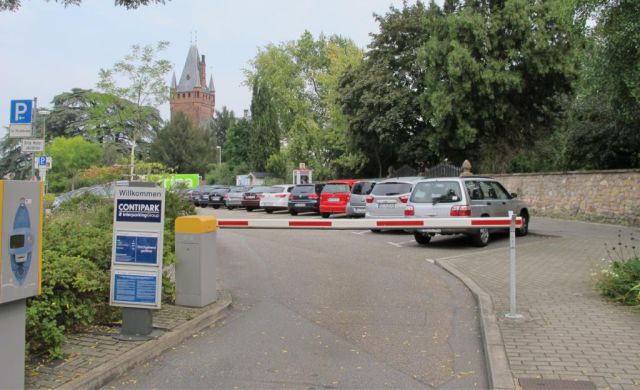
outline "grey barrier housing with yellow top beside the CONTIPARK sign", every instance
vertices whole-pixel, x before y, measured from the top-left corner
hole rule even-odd
[[[176,304],[203,307],[216,301],[216,230],[213,216],[176,218]]]

